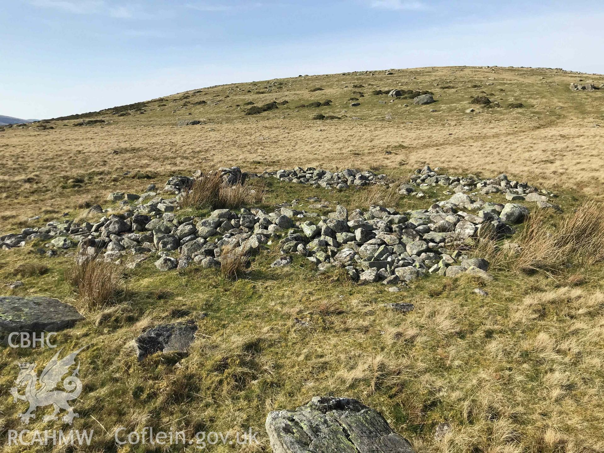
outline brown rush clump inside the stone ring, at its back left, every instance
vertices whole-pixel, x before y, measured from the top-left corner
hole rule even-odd
[[[182,196],[181,207],[193,209],[239,208],[262,202],[266,187],[262,184],[226,184],[220,172],[210,172],[196,179]]]

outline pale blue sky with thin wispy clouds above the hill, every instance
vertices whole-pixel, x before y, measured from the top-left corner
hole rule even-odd
[[[10,0],[0,114],[50,118],[193,88],[447,65],[604,73],[604,4]]]

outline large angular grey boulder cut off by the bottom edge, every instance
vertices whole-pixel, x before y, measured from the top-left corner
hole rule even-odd
[[[265,427],[274,453],[413,453],[380,413],[352,398],[315,396],[269,413]]]

